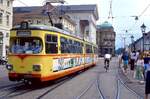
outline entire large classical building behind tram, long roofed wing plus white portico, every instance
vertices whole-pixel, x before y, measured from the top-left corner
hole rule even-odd
[[[57,10],[54,13],[56,16],[52,17],[53,22],[61,22],[64,30],[68,30],[73,35],[96,44],[97,5],[63,5],[55,8]],[[13,24],[16,25],[26,20],[34,24],[51,25],[45,12],[46,10],[43,6],[15,7]]]

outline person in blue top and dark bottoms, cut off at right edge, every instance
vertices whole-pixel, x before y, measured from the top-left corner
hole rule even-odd
[[[145,99],[148,99],[150,94],[150,56],[144,56],[144,69],[145,69]]]

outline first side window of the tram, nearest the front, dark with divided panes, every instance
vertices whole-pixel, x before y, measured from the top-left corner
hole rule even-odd
[[[57,36],[55,35],[46,35],[46,53],[58,53],[58,43]]]

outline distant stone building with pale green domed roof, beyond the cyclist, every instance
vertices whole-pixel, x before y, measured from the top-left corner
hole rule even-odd
[[[115,37],[113,26],[105,21],[101,25],[97,25],[97,45],[99,56],[109,53],[115,55]]]

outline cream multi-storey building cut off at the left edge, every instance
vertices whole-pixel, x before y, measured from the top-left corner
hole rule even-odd
[[[6,57],[12,28],[13,0],[0,0],[0,58]]]

